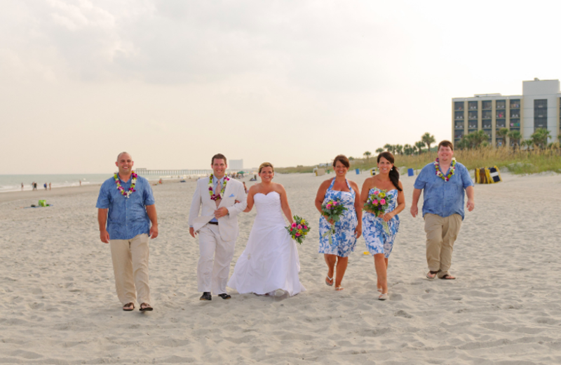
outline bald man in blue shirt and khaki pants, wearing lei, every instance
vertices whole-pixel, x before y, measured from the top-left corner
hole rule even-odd
[[[134,173],[130,154],[121,152],[115,164],[119,173],[104,181],[95,205],[100,239],[111,245],[115,286],[123,310],[134,310],[138,298],[140,311],[150,311],[149,237],[158,237],[154,194],[148,180]]]

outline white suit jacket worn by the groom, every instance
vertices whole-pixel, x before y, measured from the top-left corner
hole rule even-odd
[[[236,203],[236,200],[240,202]],[[242,183],[234,179],[228,181],[224,197],[218,208],[223,206],[228,209],[229,214],[217,218],[218,230],[223,241],[232,241],[238,237],[238,214],[248,206],[248,197]],[[191,201],[189,227],[193,227],[195,232],[201,230],[215,217],[216,209],[216,202],[210,199],[210,194],[208,194],[208,178],[198,179],[193,201]],[[201,216],[198,215],[199,212],[201,212]]]

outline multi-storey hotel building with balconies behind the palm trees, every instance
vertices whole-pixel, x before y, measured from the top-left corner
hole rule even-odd
[[[473,98],[452,98],[452,135],[454,145],[475,131],[489,135],[489,145],[505,142],[497,133],[501,128],[520,131],[527,140],[538,128],[551,133],[548,142],[557,140],[561,126],[559,80],[522,81],[522,95],[475,94]]]

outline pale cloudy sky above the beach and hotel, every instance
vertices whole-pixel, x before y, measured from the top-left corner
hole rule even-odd
[[[313,165],[560,79],[561,3],[0,0],[0,175]]]

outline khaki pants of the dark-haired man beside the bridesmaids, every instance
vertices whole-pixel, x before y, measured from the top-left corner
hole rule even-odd
[[[452,249],[461,227],[461,215],[452,214],[442,218],[427,213],[424,216],[426,232],[426,263],[428,270],[438,271],[438,277],[450,275]]]

